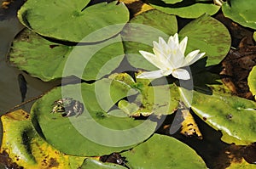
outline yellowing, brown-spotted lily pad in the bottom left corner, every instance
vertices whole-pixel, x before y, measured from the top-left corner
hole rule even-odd
[[[8,153],[19,168],[78,168],[85,157],[63,155],[41,138],[32,127],[30,115],[16,110],[1,116],[3,141],[1,153]],[[2,157],[1,157],[2,158]]]

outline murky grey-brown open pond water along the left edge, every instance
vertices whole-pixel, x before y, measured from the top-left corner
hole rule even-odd
[[[3,0],[0,0],[0,4]],[[16,69],[7,63],[9,48],[15,35],[23,29],[16,17],[16,11],[22,1],[15,1],[5,9],[0,6],[0,115],[3,115],[15,105],[21,103],[20,87],[18,82],[19,74],[26,80],[26,100],[32,99],[45,93],[54,87],[57,82],[42,82],[38,78],[29,76],[26,72]],[[21,109],[30,111],[33,102],[20,106]],[[0,144],[2,140],[2,125],[0,126]]]

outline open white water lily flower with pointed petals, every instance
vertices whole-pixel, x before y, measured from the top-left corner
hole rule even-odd
[[[189,71],[183,68],[194,64],[205,53],[199,54],[200,50],[195,50],[185,57],[187,42],[188,37],[184,37],[181,42],[178,42],[176,33],[174,36],[169,37],[167,43],[162,37],[159,37],[159,42],[153,42],[154,54],[140,50],[140,54],[160,70],[143,72],[137,78],[155,79],[172,74],[178,79],[189,80]]]

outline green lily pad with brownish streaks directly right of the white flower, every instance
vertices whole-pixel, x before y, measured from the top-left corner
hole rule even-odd
[[[217,65],[230,50],[230,33],[218,20],[204,14],[185,25],[180,37],[189,37],[186,53],[200,49],[206,52],[207,65]]]

